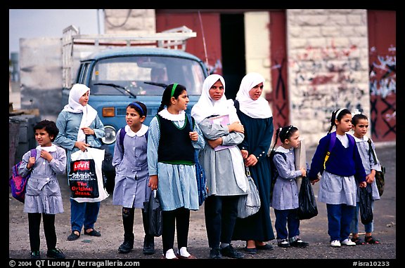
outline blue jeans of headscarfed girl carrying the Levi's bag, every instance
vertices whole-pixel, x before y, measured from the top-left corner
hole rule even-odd
[[[97,221],[98,211],[100,210],[100,202],[83,202],[79,203],[74,199],[70,199],[70,225],[72,232],[84,232],[86,229],[94,229],[94,224]]]

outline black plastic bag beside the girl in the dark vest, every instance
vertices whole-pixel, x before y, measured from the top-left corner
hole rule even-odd
[[[150,192],[149,201],[143,202],[143,209],[149,224],[148,234],[156,237],[161,236],[163,232],[162,207],[157,190]]]

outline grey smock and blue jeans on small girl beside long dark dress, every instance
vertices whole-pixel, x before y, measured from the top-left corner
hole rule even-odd
[[[285,149],[278,147],[276,152],[285,154],[274,155],[274,164],[278,171],[278,177],[273,189],[273,199],[271,206],[274,208],[276,215],[277,239],[289,238],[293,241],[294,237],[300,235],[300,220],[297,217],[298,208],[298,188],[296,178],[302,175],[301,170],[295,170],[295,154],[294,149]],[[288,228],[287,228],[288,227]]]

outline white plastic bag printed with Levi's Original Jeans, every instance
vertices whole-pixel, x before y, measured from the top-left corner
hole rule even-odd
[[[74,152],[70,160],[68,182],[70,197],[77,202],[99,202],[108,197],[103,184],[104,150],[88,148]]]

